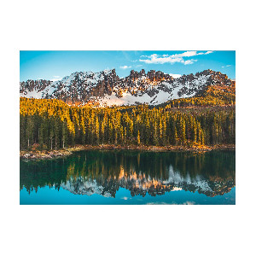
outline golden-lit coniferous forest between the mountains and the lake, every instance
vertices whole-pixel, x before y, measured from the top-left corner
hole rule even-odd
[[[175,102],[174,102],[175,103]],[[83,145],[235,144],[236,109],[75,107],[55,99],[20,98],[20,149],[58,149]],[[194,104],[194,102],[193,102]]]

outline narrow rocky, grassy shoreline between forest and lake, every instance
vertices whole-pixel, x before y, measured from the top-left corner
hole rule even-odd
[[[20,150],[20,159],[22,160],[48,160],[56,159],[60,157],[65,157],[73,154],[76,151],[83,150],[141,150],[141,151],[152,151],[152,152],[195,152],[195,153],[205,153],[212,150],[236,150],[236,145],[226,144],[226,145],[193,145],[188,146],[116,146],[116,145],[76,145],[70,148],[61,148],[58,150]]]

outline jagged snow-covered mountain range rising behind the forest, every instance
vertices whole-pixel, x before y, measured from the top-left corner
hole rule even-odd
[[[44,79],[20,82],[20,96],[59,99],[70,105],[127,106],[146,103],[157,106],[174,99],[201,96],[207,89],[230,92],[236,82],[210,69],[174,79],[160,71],[131,70],[119,78],[115,69],[99,73],[76,72],[59,80]]]

